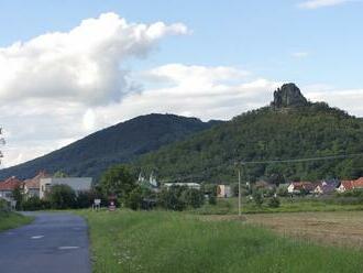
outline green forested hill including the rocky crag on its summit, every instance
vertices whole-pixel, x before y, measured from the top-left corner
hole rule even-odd
[[[275,91],[268,107],[142,156],[161,181],[237,182],[237,161],[306,159],[363,152],[363,121],[305,99],[295,85]],[[363,176],[363,157],[246,166],[246,178],[320,179]],[[190,178],[188,178],[190,177]]]

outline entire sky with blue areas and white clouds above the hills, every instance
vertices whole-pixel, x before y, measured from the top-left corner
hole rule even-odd
[[[2,167],[151,112],[228,120],[284,83],[363,117],[361,0],[0,1]]]

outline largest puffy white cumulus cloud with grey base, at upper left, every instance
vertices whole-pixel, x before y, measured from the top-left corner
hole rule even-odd
[[[122,62],[145,57],[166,35],[187,32],[182,23],[128,23],[116,13],[105,13],[69,32],[0,47],[0,99],[118,101],[129,88]]]

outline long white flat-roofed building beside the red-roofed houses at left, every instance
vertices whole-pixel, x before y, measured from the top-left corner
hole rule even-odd
[[[40,198],[43,199],[46,193],[51,190],[54,185],[67,185],[76,194],[81,192],[89,192],[91,189],[91,177],[48,177],[40,179]]]

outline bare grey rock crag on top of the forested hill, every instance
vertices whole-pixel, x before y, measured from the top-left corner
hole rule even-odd
[[[304,107],[309,102],[295,84],[285,84],[274,91],[274,101],[271,105],[274,108],[285,108]]]

